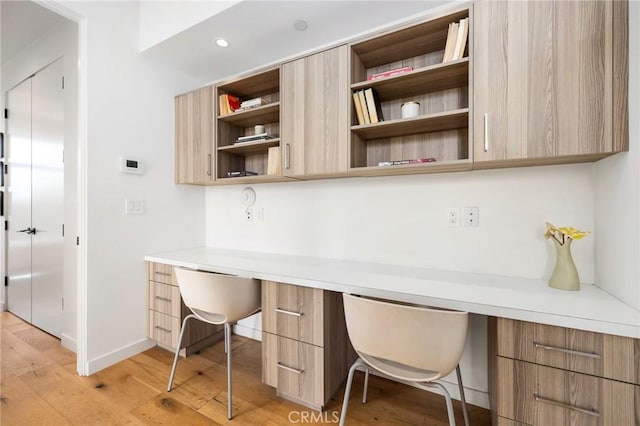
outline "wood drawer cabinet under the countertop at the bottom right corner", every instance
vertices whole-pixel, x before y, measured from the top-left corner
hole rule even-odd
[[[494,423],[640,424],[637,339],[494,319]]]

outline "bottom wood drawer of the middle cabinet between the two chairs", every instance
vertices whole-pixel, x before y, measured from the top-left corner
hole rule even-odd
[[[262,333],[262,381],[278,395],[315,409],[324,405],[323,349]]]

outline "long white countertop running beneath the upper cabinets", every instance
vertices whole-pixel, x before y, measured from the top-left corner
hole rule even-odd
[[[640,311],[595,285],[573,292],[550,288],[543,280],[212,247],[145,260],[640,338]]]

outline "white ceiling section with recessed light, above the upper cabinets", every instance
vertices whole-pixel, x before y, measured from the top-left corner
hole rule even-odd
[[[448,3],[440,1],[245,0],[146,50],[204,83],[257,68]],[[308,22],[296,31],[293,22]],[[213,41],[226,38],[230,47]]]

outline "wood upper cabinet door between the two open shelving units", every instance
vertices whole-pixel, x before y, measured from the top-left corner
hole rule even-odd
[[[348,48],[282,65],[282,174],[346,173],[349,139]]]

